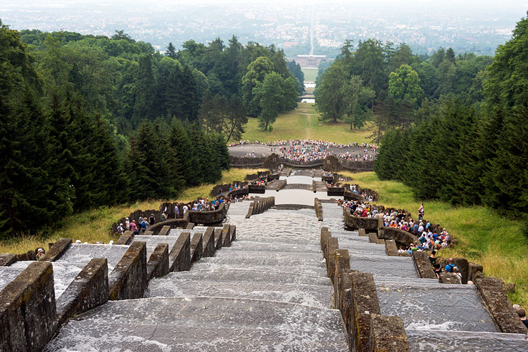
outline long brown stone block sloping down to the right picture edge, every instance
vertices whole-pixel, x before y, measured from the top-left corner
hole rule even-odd
[[[494,318],[501,332],[508,334],[528,334],[528,329],[519,319],[512,303],[506,296],[501,279],[496,277],[482,277],[474,282],[484,303]]]

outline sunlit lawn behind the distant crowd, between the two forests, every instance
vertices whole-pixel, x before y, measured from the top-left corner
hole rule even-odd
[[[361,130],[351,130],[344,122],[320,122],[313,103],[298,103],[289,113],[281,113],[273,124],[272,132],[258,127],[257,118],[249,118],[242,139],[259,142],[272,142],[287,139],[320,139],[329,142],[371,142],[372,122]]]

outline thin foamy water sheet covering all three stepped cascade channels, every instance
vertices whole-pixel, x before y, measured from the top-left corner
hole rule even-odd
[[[498,333],[475,287],[420,279],[413,258],[386,256],[385,246],[347,231],[335,203],[322,203],[322,222],[312,209],[270,209],[246,219],[250,203],[230,206],[227,223],[237,225],[230,247],[189,271],[151,279],[144,298],[108,301],[77,315],[44,351],[348,351],[341,313],[332,307],[321,227],[348,249],[352,269],[373,275],[380,313],[403,318],[411,352],[527,351],[527,335]],[[182,232],[205,231],[134,241],[146,241],[148,258]],[[72,262],[81,268],[102,256],[111,272],[128,247],[74,244],[54,268]]]

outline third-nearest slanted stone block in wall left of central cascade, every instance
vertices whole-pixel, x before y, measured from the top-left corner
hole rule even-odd
[[[108,277],[109,299],[140,298],[146,284],[146,242],[133,242]]]

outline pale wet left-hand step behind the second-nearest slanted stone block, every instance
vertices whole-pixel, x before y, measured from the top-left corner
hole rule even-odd
[[[106,258],[108,260],[108,274],[110,274],[127,249],[127,245],[120,244],[72,244],[56,261],[57,263],[87,264],[93,258]]]

